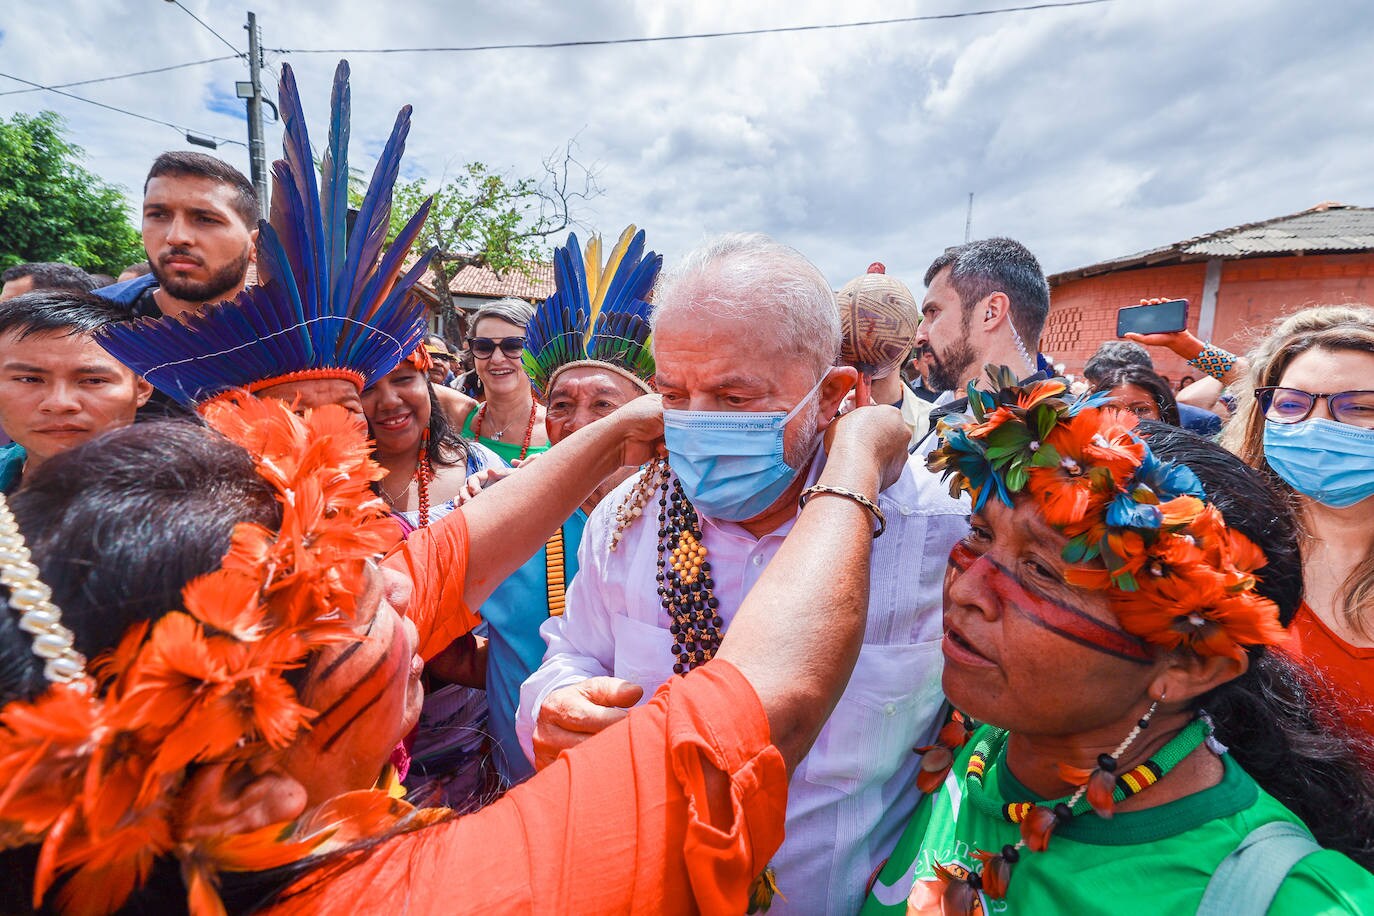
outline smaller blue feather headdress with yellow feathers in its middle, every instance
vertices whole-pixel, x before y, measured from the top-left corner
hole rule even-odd
[[[605,266],[600,236],[584,255],[577,235],[567,233],[567,244],[554,250],[554,295],[525,328],[525,371],[540,396],[548,397],[559,372],[578,365],[607,367],[653,390],[647,298],[662,266],[662,255],[644,251],[644,232],[632,225]]]

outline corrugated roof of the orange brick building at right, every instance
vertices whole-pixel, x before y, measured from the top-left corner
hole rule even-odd
[[[1315,251],[1374,251],[1374,207],[1319,203],[1311,210],[1209,232],[1050,277],[1063,280],[1138,266]]]

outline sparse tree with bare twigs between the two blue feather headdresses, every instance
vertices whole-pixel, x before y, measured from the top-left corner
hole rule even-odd
[[[437,190],[423,179],[396,185],[392,236],[426,198],[434,198],[415,247],[437,250],[430,266],[444,313],[453,313],[448,284],[459,271],[477,265],[499,276],[508,271],[528,275],[532,262],[548,257],[545,239],[574,225],[576,207],[600,195],[595,172],[578,162],[573,150],[569,141],[545,159],[540,180],[508,179],[482,162],[470,162],[458,177],[440,180]]]

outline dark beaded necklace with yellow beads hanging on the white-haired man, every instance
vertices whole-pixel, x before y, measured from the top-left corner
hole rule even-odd
[[[673,673],[705,665],[720,648],[720,603],[701,538],[701,519],[682,483],[665,477],[658,496],[658,600],[672,623]]]

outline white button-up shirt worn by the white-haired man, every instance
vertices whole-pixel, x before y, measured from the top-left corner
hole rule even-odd
[[[808,485],[824,456],[812,461]],[[644,516],[610,551],[616,507],[631,478],[602,500],[587,522],[567,611],[540,628],[548,650],[521,687],[515,731],[533,759],[534,720],[550,692],[613,674],[650,698],[672,677],[673,643],[654,574],[657,494]],[[864,884],[893,849],[915,810],[918,755],[940,722],[941,586],[949,549],[969,530],[966,503],[911,459],[879,494],[886,533],[874,541],[868,622],[849,685],[811,753],[793,775],[786,840],[772,858],[778,898],[772,913],[856,913]],[[732,522],[701,518],[720,615],[730,621],[778,552],[794,518],[761,538]],[[829,570],[816,569],[815,575]],[[816,652],[827,651],[824,644]]]

